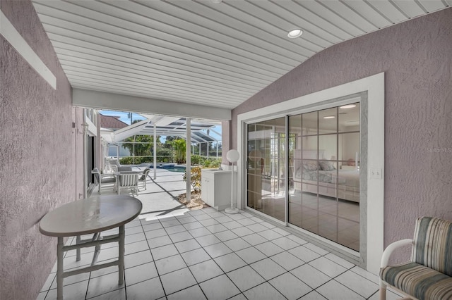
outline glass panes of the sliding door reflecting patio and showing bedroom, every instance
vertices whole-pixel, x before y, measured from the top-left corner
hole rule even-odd
[[[248,125],[247,205],[359,251],[359,103]],[[289,158],[286,169],[285,160]]]

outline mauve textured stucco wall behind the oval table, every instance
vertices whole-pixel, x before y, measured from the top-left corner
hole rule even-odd
[[[57,244],[40,234],[40,218],[83,189],[74,172],[81,157],[72,128],[78,110],[31,2],[0,5],[57,77],[54,90],[0,36],[0,299],[35,299],[54,265]]]

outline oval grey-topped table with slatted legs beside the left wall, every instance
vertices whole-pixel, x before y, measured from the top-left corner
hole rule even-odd
[[[44,215],[40,221],[40,232],[50,237],[58,237],[57,299],[63,299],[64,277],[108,268],[112,265],[118,265],[119,285],[124,284],[124,225],[136,218],[141,213],[142,207],[141,201],[131,196],[93,196],[89,199],[65,204]],[[119,227],[118,235],[85,241],[77,239],[78,242],[75,245],[64,246],[64,237],[97,234],[115,227]],[[81,248],[95,246],[96,252],[98,252],[100,244],[111,242],[119,242],[117,261],[95,265],[95,258],[93,258],[93,264],[89,267],[64,272],[63,254],[65,251],[76,249],[78,259],[80,259]]]

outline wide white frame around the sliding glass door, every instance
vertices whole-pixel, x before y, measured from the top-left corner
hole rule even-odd
[[[381,255],[383,254],[383,194],[384,194],[384,73],[379,73],[361,80],[348,82],[337,87],[331,87],[319,92],[300,96],[295,99],[283,101],[279,104],[258,108],[254,111],[242,113],[237,115],[237,149],[241,154],[242,159],[237,162],[238,168],[238,201],[237,206],[242,209],[246,207],[246,124],[256,123],[268,118],[282,118],[294,113],[303,113],[308,108],[315,106],[316,110],[331,107],[330,104],[321,104],[331,99],[338,99],[351,94],[367,92],[367,141],[362,141],[364,144],[361,148],[367,151],[367,204],[365,211],[360,211],[360,224],[362,218],[364,219],[364,237],[366,240],[360,242],[359,253],[355,251],[347,251],[345,247],[340,245],[335,247],[335,243],[331,241],[323,241],[319,237],[319,242],[325,242],[328,249],[331,249],[328,244],[331,244],[333,253],[343,254],[344,258],[349,261],[357,263],[362,268],[369,272],[378,274],[380,267]],[[350,101],[347,99],[346,101]],[[335,105],[341,105],[341,101],[335,102]],[[378,170],[374,172],[379,176],[370,176],[369,170]],[[287,186],[287,185],[286,185]],[[361,191],[360,191],[361,192]],[[366,192],[366,191],[364,191]],[[287,197],[287,194],[286,194]],[[287,202],[287,201],[286,201]],[[286,204],[287,205],[287,204]],[[286,210],[287,213],[287,210]],[[287,226],[287,218],[282,225]],[[361,226],[361,225],[360,225]],[[300,231],[302,232],[302,231]],[[334,248],[337,251],[334,251]]]

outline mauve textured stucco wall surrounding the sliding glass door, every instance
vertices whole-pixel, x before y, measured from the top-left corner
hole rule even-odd
[[[235,108],[231,139],[239,113],[381,72],[387,246],[412,237],[420,215],[452,220],[452,8],[316,54]]]

